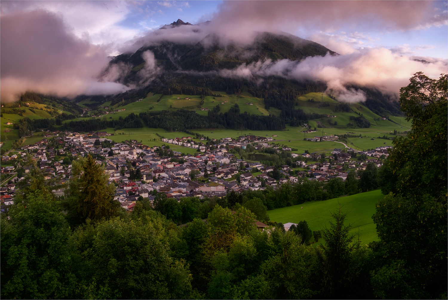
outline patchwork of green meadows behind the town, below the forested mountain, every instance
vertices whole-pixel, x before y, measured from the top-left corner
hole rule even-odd
[[[222,91],[214,91],[215,94],[220,94],[221,97],[213,97],[206,96],[204,99],[204,104],[202,107],[213,109],[216,105],[220,106],[220,112],[227,112],[235,103],[237,103],[240,107],[241,111],[247,111],[249,113],[255,113],[258,115],[268,115],[274,114],[279,115],[280,110],[275,108],[270,108],[267,111],[264,108],[264,100],[261,98],[253,97],[248,91],[247,88],[244,88],[240,95],[235,94],[227,94]],[[118,119],[119,117],[126,117],[130,113],[141,113],[146,111],[157,111],[157,110],[176,110],[176,109],[189,109],[194,110],[196,113],[207,115],[208,111],[199,110],[201,97],[189,96],[189,95],[165,95],[160,99],[160,94],[152,94],[149,93],[146,97],[144,97],[141,101],[132,102],[125,106],[118,107],[118,104],[111,107],[111,109],[120,109],[119,112],[107,114],[103,117],[106,117],[108,120],[110,119]],[[185,99],[186,97],[190,99]],[[179,98],[179,99],[177,99]],[[157,101],[159,99],[159,101]],[[312,101],[309,101],[312,100]],[[246,104],[252,102],[253,105]],[[90,99],[86,99],[80,102],[80,106],[82,104],[91,103]],[[35,104],[45,106],[46,104]],[[328,106],[324,106],[328,105]],[[387,139],[378,139],[378,136],[387,135],[392,137],[392,135],[388,135],[388,133],[397,131],[406,131],[410,128],[410,122],[405,120],[405,117],[395,117],[391,116],[391,121],[388,120],[378,120],[378,115],[367,109],[362,104],[350,104],[351,109],[356,112],[351,111],[347,112],[335,112],[336,106],[339,103],[336,100],[331,99],[325,94],[322,93],[309,93],[304,96],[297,98],[297,109],[303,109],[307,113],[320,113],[320,114],[331,114],[336,115],[335,118],[323,117],[320,119],[312,120],[309,122],[312,128],[316,127],[318,129],[317,132],[312,133],[303,133],[302,130],[305,128],[302,127],[291,127],[286,126],[285,130],[272,130],[272,131],[257,131],[257,130],[227,130],[227,129],[203,129],[203,130],[194,130],[194,132],[201,133],[205,136],[208,136],[212,139],[221,139],[224,137],[232,137],[236,138],[240,135],[258,135],[265,137],[272,137],[274,139],[274,143],[279,143],[280,145],[289,146],[291,148],[297,149],[294,151],[296,153],[303,153],[305,150],[309,152],[329,152],[334,148],[344,148],[345,146],[342,143],[336,142],[310,142],[303,140],[304,138],[313,138],[314,136],[322,136],[322,135],[362,135],[362,138],[349,138],[347,145],[354,149],[358,150],[367,150],[376,148],[379,146],[392,146],[392,140]],[[110,106],[110,102],[101,104],[102,107]],[[37,108],[37,107],[36,107]],[[121,109],[125,109],[122,111]],[[36,113],[30,112],[26,109],[26,113],[24,113],[24,117],[30,118],[43,118],[50,117],[50,115],[42,110],[35,110]],[[92,112],[93,113],[93,112]],[[347,124],[350,121],[350,116],[357,117],[359,116],[357,113],[362,114],[369,120],[371,126],[370,128],[347,128]],[[11,129],[12,125],[5,125],[6,122],[17,122],[21,117],[16,114],[4,114],[4,117],[1,118],[1,140],[2,141],[10,141],[6,142],[7,147],[10,147],[12,143],[11,140],[17,139],[17,133],[9,133],[5,134],[4,129]],[[86,120],[88,118],[78,118],[79,120]],[[75,119],[73,121],[78,121]],[[72,120],[66,120],[65,122],[70,122]],[[337,122],[337,125],[334,122]],[[330,123],[331,122],[331,123]],[[396,122],[396,123],[394,123]],[[320,127],[320,128],[319,128]],[[166,132],[164,129],[158,128],[133,128],[133,129],[121,129],[115,131],[113,128],[106,129],[108,133],[114,133],[114,137],[112,138],[115,141],[121,141],[124,139],[132,138],[137,140],[142,140],[144,143],[149,146],[159,145],[158,140],[159,136],[156,135],[158,133],[161,136],[166,138],[175,138],[181,136],[187,136],[185,132]],[[123,135],[129,135],[129,137],[124,138]],[[131,137],[132,136],[132,137]],[[154,139],[156,139],[154,141]],[[374,140],[372,140],[374,139]],[[194,149],[185,149],[185,152],[191,152]]]

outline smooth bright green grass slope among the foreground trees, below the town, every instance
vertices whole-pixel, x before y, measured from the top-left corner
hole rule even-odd
[[[375,204],[383,197],[381,190],[339,197],[341,211],[348,212],[345,224],[352,224],[352,230],[350,231],[352,234],[358,233],[359,229],[362,243],[378,240],[372,216],[375,213]],[[301,209],[302,206],[303,209]],[[329,227],[328,221],[333,220],[331,212],[335,212],[338,207],[338,198],[334,198],[273,209],[268,211],[268,214],[271,221],[284,224],[288,222],[298,223],[305,220],[311,230],[320,230],[325,226]],[[313,241],[313,238],[310,241]]]

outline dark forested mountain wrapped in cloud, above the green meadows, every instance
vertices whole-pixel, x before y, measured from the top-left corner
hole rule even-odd
[[[188,24],[178,20],[169,26],[194,26]],[[154,54],[157,67],[157,71],[150,74],[150,81],[146,80],[148,72],[143,58],[147,51]],[[219,72],[267,59],[277,61],[287,58],[300,61],[306,57],[325,56],[327,53],[338,55],[319,43],[287,33],[259,32],[250,45],[229,44],[225,47],[221,46],[218,36],[210,34],[195,44],[164,40],[155,45],[144,46],[134,53],[123,53],[112,58],[109,68],[125,65],[130,70],[121,74],[118,82],[138,87],[137,90],[121,95],[132,99],[141,98],[148,92],[167,93],[168,89],[177,93],[210,95],[213,90],[238,92],[243,86],[249,87],[249,92],[256,97],[264,98],[279,93],[293,97],[310,91],[325,91],[326,86],[323,83],[271,77],[264,78],[263,87],[259,87],[258,83],[243,78],[224,78]],[[105,74],[107,72],[105,70]]]

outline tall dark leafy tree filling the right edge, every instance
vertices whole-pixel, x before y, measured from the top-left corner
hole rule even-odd
[[[379,242],[371,282],[383,298],[447,295],[447,90],[446,74],[435,80],[422,72],[400,90],[412,129],[394,140],[379,170],[388,195],[373,217]]]

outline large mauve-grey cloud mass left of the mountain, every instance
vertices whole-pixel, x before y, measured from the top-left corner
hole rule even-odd
[[[108,63],[105,48],[70,34],[62,19],[44,10],[1,16],[2,101],[25,91],[56,96],[114,94],[129,89],[97,76]]]

